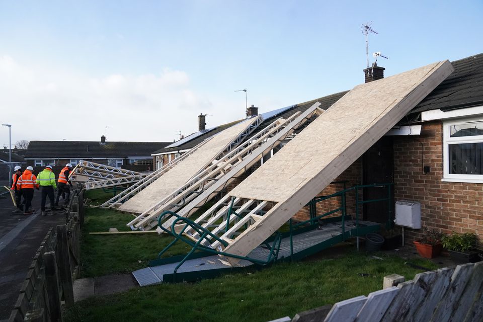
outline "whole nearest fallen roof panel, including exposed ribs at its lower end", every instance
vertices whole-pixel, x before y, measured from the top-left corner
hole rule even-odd
[[[228,261],[236,265],[452,71],[449,61],[437,62],[355,87],[197,218],[194,225],[176,226],[184,224],[176,218],[171,221],[172,228],[197,245],[230,254]]]

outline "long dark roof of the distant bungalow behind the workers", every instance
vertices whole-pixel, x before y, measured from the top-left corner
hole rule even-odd
[[[171,142],[30,141],[25,158],[151,156]]]

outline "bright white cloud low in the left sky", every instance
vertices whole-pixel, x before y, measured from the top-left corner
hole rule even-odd
[[[98,140],[112,126],[111,140],[171,141],[177,130],[196,131],[197,115],[214,108],[182,70],[86,77],[10,56],[0,56],[0,93],[2,120],[16,140]]]

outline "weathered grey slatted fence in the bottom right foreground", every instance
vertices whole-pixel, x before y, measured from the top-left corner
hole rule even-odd
[[[367,297],[354,297],[275,321],[483,321],[483,262],[416,274],[412,281]]]

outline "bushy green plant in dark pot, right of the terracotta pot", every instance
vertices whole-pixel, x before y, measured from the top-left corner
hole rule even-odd
[[[456,264],[479,261],[478,254],[481,251],[475,248],[478,244],[478,237],[474,232],[453,231],[450,235],[445,235],[442,238],[442,244]]]

